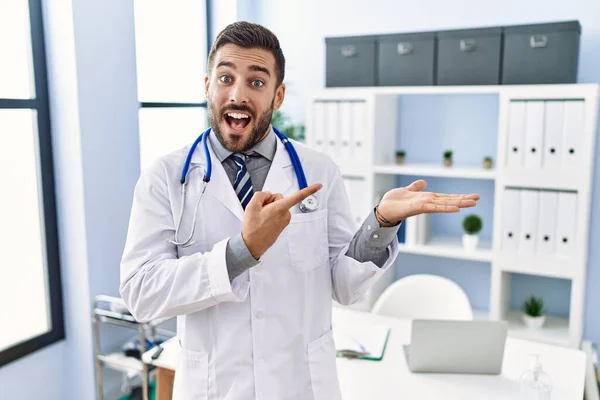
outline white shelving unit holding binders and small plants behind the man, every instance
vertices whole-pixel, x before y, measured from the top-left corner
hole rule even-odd
[[[439,164],[395,164],[400,97],[480,94],[498,99],[493,169],[444,167],[441,160]],[[469,252],[460,237],[433,236],[423,244],[401,244],[401,252],[487,263],[490,309],[477,310],[478,318],[507,320],[509,334],[516,337],[578,347],[583,333],[598,95],[596,84],[328,88],[309,99],[306,138],[309,146],[326,152],[340,166],[357,227],[380,197],[397,186],[398,176],[493,182],[491,241],[481,241],[477,250]],[[512,199],[519,199],[518,207],[509,203],[507,195],[515,192],[518,195]],[[535,201],[526,203],[526,198]],[[517,215],[515,210],[523,212]],[[555,218],[541,218],[547,210],[553,210]],[[541,221],[545,225],[538,227]],[[540,235],[543,229],[551,229],[548,221],[552,234],[540,239],[537,229]],[[536,231],[529,239],[531,224]],[[510,307],[515,273],[569,280],[568,318],[548,316],[541,330],[526,328],[520,312]],[[392,280],[387,274],[356,308],[370,309]]]

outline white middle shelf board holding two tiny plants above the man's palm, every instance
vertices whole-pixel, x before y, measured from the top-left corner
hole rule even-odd
[[[488,170],[482,167],[444,167],[437,164],[376,165],[373,167],[373,172],[387,175],[439,176],[463,179],[493,180],[496,177],[496,171],[493,169]]]

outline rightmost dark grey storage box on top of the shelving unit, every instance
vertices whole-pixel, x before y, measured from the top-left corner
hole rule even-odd
[[[576,83],[578,21],[504,28],[502,83]]]

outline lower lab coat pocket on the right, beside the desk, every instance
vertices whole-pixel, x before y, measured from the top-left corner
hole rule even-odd
[[[315,400],[341,400],[332,330],[308,344],[308,367]]]

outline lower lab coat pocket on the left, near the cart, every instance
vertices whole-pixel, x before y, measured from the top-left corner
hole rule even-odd
[[[173,400],[208,400],[208,354],[181,348]]]

